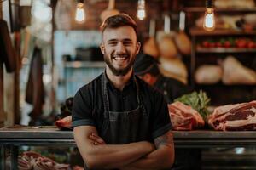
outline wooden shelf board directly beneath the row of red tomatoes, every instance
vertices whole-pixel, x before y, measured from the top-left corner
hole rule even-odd
[[[256,53],[256,48],[202,48],[202,47],[197,47],[196,53]]]

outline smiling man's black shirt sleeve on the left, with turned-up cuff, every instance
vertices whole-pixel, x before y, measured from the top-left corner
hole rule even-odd
[[[92,100],[88,88],[81,88],[75,94],[72,108],[72,127],[84,125],[96,125],[92,116]]]

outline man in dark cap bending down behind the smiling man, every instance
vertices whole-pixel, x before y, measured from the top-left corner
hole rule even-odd
[[[149,85],[160,90],[168,104],[181,95],[191,92],[189,86],[183,84],[183,82],[179,82],[171,77],[164,77],[160,73],[159,64],[159,61],[151,55],[140,54],[135,59],[134,73],[142,78],[143,81],[148,82]]]

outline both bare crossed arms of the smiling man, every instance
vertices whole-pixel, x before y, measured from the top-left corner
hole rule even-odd
[[[74,138],[88,168],[162,169],[172,167],[174,160],[171,131],[154,139],[154,144],[105,144],[91,126],[75,127]]]

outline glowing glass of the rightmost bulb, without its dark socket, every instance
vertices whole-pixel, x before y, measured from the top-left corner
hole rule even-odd
[[[207,8],[204,18],[204,29],[206,31],[212,31],[215,28],[214,12],[213,8]]]

